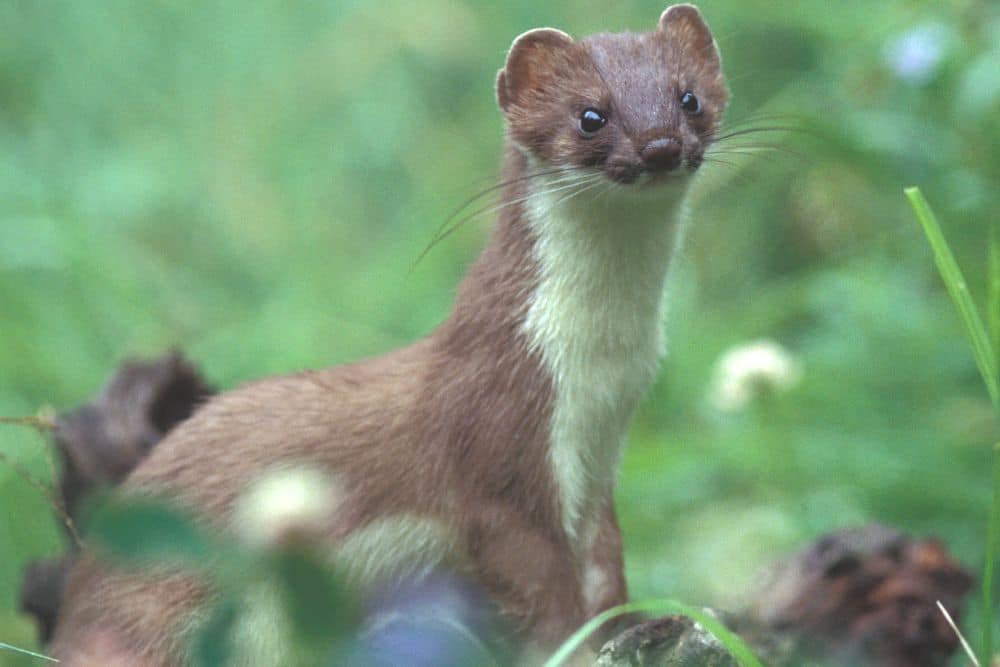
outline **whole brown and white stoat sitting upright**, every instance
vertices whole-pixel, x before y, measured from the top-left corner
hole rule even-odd
[[[319,467],[340,491],[325,543],[349,579],[456,568],[552,647],[626,599],[618,459],[663,352],[686,186],[726,91],[707,26],[678,5],[650,33],[526,33],[497,94],[507,184],[451,316],[383,357],[213,399],[128,486],[226,527],[261,473]],[[183,575],[85,559],[54,651],[177,664],[207,599]]]

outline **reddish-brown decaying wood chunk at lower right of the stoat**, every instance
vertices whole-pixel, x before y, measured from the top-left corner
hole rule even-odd
[[[794,635],[802,653],[847,665],[945,665],[972,577],[934,539],[881,525],[841,530],[775,566],[745,621]]]

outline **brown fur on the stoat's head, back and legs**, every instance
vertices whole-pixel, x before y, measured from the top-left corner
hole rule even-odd
[[[528,156],[599,166],[626,182],[642,171],[642,142],[669,133],[683,141],[688,167],[697,167],[725,88],[696,10],[668,18],[643,35],[576,43],[548,30],[515,42],[497,80],[510,136],[504,201],[531,187]],[[705,109],[684,121],[675,98],[696,85]],[[601,137],[581,141],[574,122],[587,106],[617,116]],[[454,562],[526,637],[553,647],[627,595],[613,489],[596,504],[597,536],[583,553],[561,522],[548,458],[553,383],[521,329],[538,279],[534,243],[522,206],[503,208],[453,313],[427,339],[223,394],[172,432],[127,487],[169,496],[225,527],[261,472],[318,466],[344,491],[330,519],[331,541],[380,517],[436,519],[458,536]],[[602,582],[589,600],[582,586],[588,569]],[[87,559],[68,584],[54,651],[73,664],[79,647],[113,632],[116,646],[143,664],[176,664],[179,630],[207,595],[180,574],[107,572]]]

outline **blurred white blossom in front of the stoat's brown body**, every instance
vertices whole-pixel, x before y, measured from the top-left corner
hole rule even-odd
[[[328,533],[340,493],[315,468],[285,468],[259,478],[240,498],[236,529],[257,547],[308,543]]]

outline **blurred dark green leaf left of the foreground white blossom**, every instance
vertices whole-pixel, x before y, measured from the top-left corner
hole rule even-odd
[[[146,499],[112,499],[87,521],[87,540],[126,561],[204,562],[210,545],[185,514]]]

